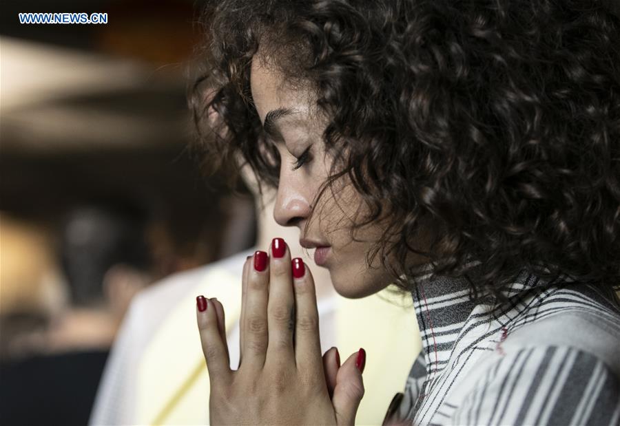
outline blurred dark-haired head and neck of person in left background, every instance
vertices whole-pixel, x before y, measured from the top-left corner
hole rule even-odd
[[[70,213],[61,263],[72,307],[50,330],[52,348],[110,348],[132,297],[152,279],[145,214],[129,205]]]

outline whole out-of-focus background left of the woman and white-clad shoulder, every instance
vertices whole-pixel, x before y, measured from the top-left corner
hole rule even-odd
[[[225,176],[203,178],[187,149],[200,2],[0,8],[0,423],[8,425],[36,406],[21,401],[21,389],[62,381],[79,363],[87,373],[72,379],[81,381],[76,407],[90,409],[133,295],[251,247],[256,231],[251,198],[229,195]],[[19,12],[105,12],[108,23],[22,25]]]

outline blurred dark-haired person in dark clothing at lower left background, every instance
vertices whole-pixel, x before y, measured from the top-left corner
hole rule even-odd
[[[146,224],[139,209],[120,204],[70,212],[60,244],[70,304],[41,334],[40,354],[2,365],[2,424],[87,422],[125,310],[151,280]]]

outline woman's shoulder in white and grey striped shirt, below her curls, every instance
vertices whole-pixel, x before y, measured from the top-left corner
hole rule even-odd
[[[451,423],[617,424],[620,308],[587,284],[537,290],[448,397]]]

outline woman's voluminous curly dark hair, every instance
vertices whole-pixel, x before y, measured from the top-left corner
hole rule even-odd
[[[200,132],[201,147],[220,165],[241,153],[278,185],[278,151],[262,138],[249,85],[260,46],[292,84],[316,92],[335,159],[325,187],[348,177],[370,210],[353,228],[389,217],[369,262],[379,251],[396,259],[384,266],[398,287],[415,286],[419,269],[406,257],[419,253],[435,275],[482,262],[473,295],[505,299],[524,269],[609,294],[620,287],[620,17],[611,7],[209,1],[208,68],[190,99],[198,128],[213,130]]]

